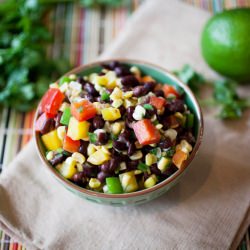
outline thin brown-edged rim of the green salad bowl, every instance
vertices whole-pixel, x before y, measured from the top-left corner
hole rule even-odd
[[[174,80],[174,82],[179,85],[180,87],[182,87],[185,91],[185,93],[189,94],[189,97],[192,101],[192,103],[195,106],[195,110],[197,110],[197,114],[198,114],[198,123],[199,123],[199,127],[198,127],[198,133],[197,133],[197,139],[195,142],[195,145],[193,147],[193,150],[190,154],[190,156],[188,157],[188,159],[185,161],[184,166],[181,169],[178,169],[174,174],[172,174],[171,176],[169,176],[167,179],[161,181],[160,183],[156,184],[155,186],[148,188],[148,189],[142,189],[139,191],[135,191],[135,192],[131,192],[131,193],[123,193],[123,194],[107,194],[107,193],[100,193],[100,192],[96,192],[96,191],[92,191],[92,190],[88,190],[86,188],[82,188],[80,186],[75,185],[74,183],[70,182],[69,180],[67,180],[66,178],[64,178],[58,171],[56,171],[46,160],[45,155],[43,155],[42,153],[42,149],[39,146],[38,140],[39,140],[39,134],[35,131],[35,122],[37,120],[37,116],[39,113],[39,107],[41,104],[41,100],[37,106],[36,112],[35,112],[35,116],[34,116],[34,122],[33,122],[33,134],[35,137],[35,144],[36,144],[36,149],[38,151],[38,155],[40,157],[40,159],[42,160],[42,162],[44,163],[43,165],[46,166],[47,170],[49,170],[50,172],[52,172],[52,174],[56,177],[57,180],[59,180],[60,182],[62,182],[63,184],[65,184],[67,186],[67,188],[76,190],[84,195],[87,196],[94,196],[96,198],[102,198],[102,199],[128,199],[128,198],[133,198],[133,197],[137,197],[137,196],[141,196],[141,195],[146,195],[149,193],[152,193],[156,190],[161,189],[164,186],[167,186],[168,184],[170,184],[171,182],[174,182],[174,180],[176,180],[179,176],[181,176],[181,174],[183,172],[185,172],[188,168],[188,166],[190,165],[190,163],[192,162],[192,160],[194,159],[195,155],[198,152],[198,149],[200,147],[200,144],[202,142],[202,138],[203,138],[203,132],[204,132],[204,121],[203,121],[203,114],[202,114],[202,110],[201,107],[196,99],[196,97],[194,96],[193,92],[191,91],[191,89],[184,84],[178,77],[176,77],[174,74],[172,74],[170,71],[166,70],[165,68],[153,64],[153,63],[149,63],[146,61],[142,61],[142,60],[137,60],[137,59],[126,59],[126,58],[109,58],[106,60],[97,60],[95,62],[92,63],[88,63],[88,64],[83,64],[80,65],[72,70],[70,70],[69,72],[67,72],[66,74],[64,74],[63,76],[68,76],[71,74],[78,74],[80,72],[83,72],[84,70],[87,70],[89,68],[95,67],[95,66],[100,66],[102,64],[105,63],[109,63],[112,61],[119,61],[121,63],[129,63],[129,64],[138,64],[138,65],[146,65],[149,66],[151,68],[154,68],[158,71],[161,71],[162,73],[168,75],[168,77],[170,77],[172,80]],[[58,80],[57,80],[58,81]]]

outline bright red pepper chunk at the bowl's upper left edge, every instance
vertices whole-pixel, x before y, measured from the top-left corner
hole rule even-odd
[[[56,88],[50,88],[42,98],[41,109],[47,114],[55,115],[64,99],[64,94]]]

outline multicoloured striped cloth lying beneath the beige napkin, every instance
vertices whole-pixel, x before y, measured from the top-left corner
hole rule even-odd
[[[183,0],[210,12],[237,6],[250,7],[250,0]],[[72,66],[94,60],[115,38],[128,17],[143,0],[130,0],[117,9],[84,9],[74,4],[58,4],[50,13],[48,24],[54,43],[48,48],[52,58],[67,58]],[[62,18],[63,17],[63,18]],[[0,172],[32,136],[34,111],[17,113],[11,109],[0,111]],[[239,249],[250,249],[249,232]],[[25,249],[0,231],[0,250]]]

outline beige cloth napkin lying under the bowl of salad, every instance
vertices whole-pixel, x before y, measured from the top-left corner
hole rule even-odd
[[[212,76],[199,53],[208,17],[181,2],[149,0],[103,57],[169,69],[191,63]],[[205,115],[203,145],[185,178],[135,207],[71,194],[42,166],[32,140],[0,176],[0,227],[28,249],[234,249],[249,224],[249,115],[232,122]]]

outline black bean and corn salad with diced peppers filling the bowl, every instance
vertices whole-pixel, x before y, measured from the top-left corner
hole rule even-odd
[[[114,61],[51,84],[35,130],[63,177],[120,194],[153,187],[182,168],[195,143],[193,126],[180,91]]]

